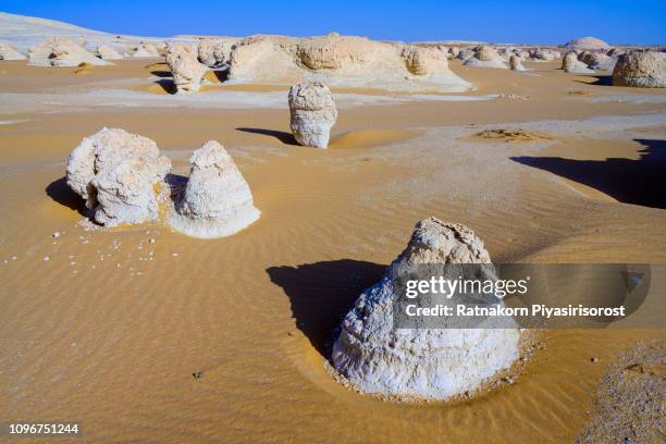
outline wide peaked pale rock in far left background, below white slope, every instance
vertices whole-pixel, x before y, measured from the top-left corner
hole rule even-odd
[[[34,66],[78,66],[82,63],[108,64],[74,40],[61,36],[49,37],[28,50],[28,64]]]

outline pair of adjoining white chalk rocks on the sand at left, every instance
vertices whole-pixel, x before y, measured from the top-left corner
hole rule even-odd
[[[234,161],[217,141],[192,156],[186,183],[171,176],[157,144],[120,128],[86,137],[67,161],[67,185],[104,226],[160,221],[202,238],[229,236],[259,218]]]

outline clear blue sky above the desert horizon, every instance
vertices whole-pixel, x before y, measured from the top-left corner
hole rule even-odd
[[[555,44],[595,36],[610,44],[666,44],[666,0],[0,0],[0,11],[159,37],[336,30],[405,41]]]

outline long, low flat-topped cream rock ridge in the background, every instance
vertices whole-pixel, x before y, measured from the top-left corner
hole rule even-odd
[[[418,73],[418,74],[415,74]],[[464,91],[470,85],[449,69],[435,47],[411,47],[330,34],[292,38],[252,36],[231,53],[232,83],[326,85],[393,90]]]

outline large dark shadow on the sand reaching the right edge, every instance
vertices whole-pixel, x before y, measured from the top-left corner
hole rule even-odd
[[[634,139],[645,148],[638,160],[574,160],[513,157],[522,163],[595,188],[625,203],[666,209],[666,140]]]

